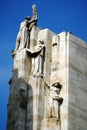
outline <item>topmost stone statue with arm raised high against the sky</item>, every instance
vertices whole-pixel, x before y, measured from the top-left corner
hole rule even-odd
[[[30,19],[29,16],[20,24],[20,30],[16,39],[16,49],[29,48],[30,44],[30,31],[37,22],[37,10],[36,5],[32,6],[33,17]]]

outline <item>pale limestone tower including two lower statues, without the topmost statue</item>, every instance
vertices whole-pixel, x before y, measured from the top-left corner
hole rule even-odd
[[[33,26],[30,48],[12,56],[7,130],[87,129],[84,41],[69,32]]]

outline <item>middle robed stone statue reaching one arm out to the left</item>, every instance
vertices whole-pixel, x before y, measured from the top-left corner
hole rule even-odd
[[[44,42],[39,41],[39,43],[34,47],[33,50],[28,49],[28,52],[30,53],[32,60],[33,60],[33,57],[34,57],[34,62],[32,63],[33,76],[42,74],[44,47],[45,47]]]

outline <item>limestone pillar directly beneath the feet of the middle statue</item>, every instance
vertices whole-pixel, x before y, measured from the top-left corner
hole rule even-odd
[[[43,119],[43,78],[41,76],[29,78],[27,99],[27,130],[41,130]]]

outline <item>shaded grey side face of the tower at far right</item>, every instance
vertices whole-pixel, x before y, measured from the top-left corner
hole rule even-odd
[[[87,44],[69,34],[69,129],[87,129]]]

